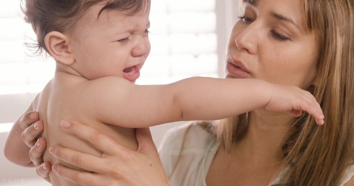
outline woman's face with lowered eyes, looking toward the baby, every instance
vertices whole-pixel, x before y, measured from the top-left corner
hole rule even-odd
[[[303,0],[245,2],[228,45],[227,78],[257,78],[308,89],[317,55]]]

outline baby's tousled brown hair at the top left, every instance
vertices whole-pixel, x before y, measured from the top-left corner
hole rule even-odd
[[[34,48],[34,54],[43,54],[43,50],[49,54],[44,43],[45,36],[51,31],[74,34],[78,21],[91,6],[100,2],[106,4],[99,11],[97,18],[105,9],[135,16],[148,11],[151,3],[150,0],[21,0],[24,20],[32,25],[37,36],[36,43],[26,45]]]

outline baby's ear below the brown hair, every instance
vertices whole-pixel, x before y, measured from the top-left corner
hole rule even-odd
[[[50,55],[63,64],[71,65],[75,61],[75,56],[71,52],[69,38],[61,32],[51,31],[44,38],[45,46]]]

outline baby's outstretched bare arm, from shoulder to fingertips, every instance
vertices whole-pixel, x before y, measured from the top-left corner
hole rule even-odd
[[[98,121],[133,128],[222,119],[267,108],[269,103],[270,110],[295,116],[306,110],[315,115],[316,121],[321,120],[319,104],[308,92],[302,95],[304,92],[259,79],[194,77],[167,85],[135,85],[122,78],[105,77],[85,85],[78,101],[85,102],[87,111],[92,112],[87,114]]]

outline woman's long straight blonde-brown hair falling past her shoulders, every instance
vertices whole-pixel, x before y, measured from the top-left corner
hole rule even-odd
[[[283,146],[286,186],[337,186],[354,160],[354,0],[304,0],[308,28],[318,35],[316,87],[325,125],[303,113]],[[246,114],[213,126],[228,151],[246,131]]]

